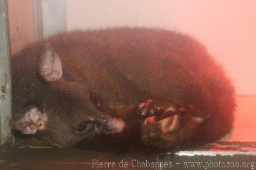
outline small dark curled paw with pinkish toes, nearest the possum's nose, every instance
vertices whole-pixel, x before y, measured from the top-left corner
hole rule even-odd
[[[136,106],[135,113],[142,118],[153,115],[158,116],[163,113],[163,107],[160,106],[156,101],[148,99],[145,103],[139,103]]]

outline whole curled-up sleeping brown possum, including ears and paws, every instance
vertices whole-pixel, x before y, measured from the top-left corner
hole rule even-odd
[[[12,77],[18,143],[169,149],[218,140],[233,125],[230,80],[174,31],[59,34],[13,56]]]

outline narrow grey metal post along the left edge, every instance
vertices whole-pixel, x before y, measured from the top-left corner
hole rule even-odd
[[[6,1],[0,0],[0,146],[12,142],[12,83]]]

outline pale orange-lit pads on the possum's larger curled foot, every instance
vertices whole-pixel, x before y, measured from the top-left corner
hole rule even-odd
[[[179,114],[166,117],[159,121],[157,121],[157,116],[151,116],[145,119],[144,125],[156,124],[157,127],[163,133],[168,133],[168,132],[174,132],[178,130],[178,128],[180,127],[180,119],[181,119],[181,116]]]

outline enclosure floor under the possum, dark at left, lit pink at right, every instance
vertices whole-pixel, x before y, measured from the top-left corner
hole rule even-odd
[[[233,136],[225,142],[206,144],[189,152],[178,153],[114,153],[90,150],[57,148],[2,148],[0,149],[0,170],[90,170],[90,169],[125,169],[120,162],[127,162],[128,169],[147,169],[133,167],[137,162],[174,162],[172,169],[183,169],[181,161],[256,160],[256,96],[238,96]],[[189,156],[190,155],[190,156]],[[197,155],[197,156],[193,156]],[[218,156],[229,156],[219,158]],[[235,155],[235,156],[234,156]],[[246,157],[248,156],[249,157]],[[250,157],[253,155],[253,157]],[[183,157],[182,157],[183,156]],[[202,156],[204,156],[202,158]],[[213,157],[212,157],[213,156]],[[102,162],[115,162],[113,167],[93,167],[93,159]],[[135,161],[136,162],[136,161]],[[175,163],[176,162],[176,163]],[[134,164],[133,164],[134,165]],[[176,166],[176,168],[175,168]],[[154,168],[164,169],[164,168]],[[186,169],[186,168],[185,168]],[[215,168],[218,169],[218,168]],[[221,169],[221,168],[220,168]]]

